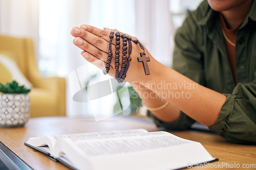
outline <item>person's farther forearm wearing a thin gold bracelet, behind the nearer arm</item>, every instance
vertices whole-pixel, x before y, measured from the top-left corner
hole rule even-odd
[[[156,108],[163,106],[166,103],[165,99],[162,99],[152,90],[145,88],[142,84],[134,82],[132,86],[137,91],[140,98],[143,100],[147,107]],[[161,110],[151,111],[151,113],[163,122],[174,122],[180,116],[180,110],[172,103],[169,103],[165,108]]]

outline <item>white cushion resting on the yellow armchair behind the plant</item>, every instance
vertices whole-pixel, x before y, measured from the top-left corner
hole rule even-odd
[[[4,71],[3,74],[2,74],[2,71]],[[11,80],[16,80],[20,85],[25,85],[25,87],[27,88],[32,87],[32,84],[22,74],[22,71],[20,71],[15,61],[3,54],[0,54],[0,72],[1,72],[1,79],[0,79],[1,83],[10,82]]]

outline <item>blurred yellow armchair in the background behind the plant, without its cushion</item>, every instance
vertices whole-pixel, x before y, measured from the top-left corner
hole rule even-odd
[[[66,80],[59,77],[40,76],[35,62],[32,39],[0,35],[0,54],[12,58],[33,85],[29,93],[30,117],[66,115]],[[0,66],[0,72],[1,77],[7,80],[9,75],[6,69]],[[9,79],[11,81],[11,77]]]

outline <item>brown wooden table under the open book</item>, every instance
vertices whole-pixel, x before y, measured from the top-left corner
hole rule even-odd
[[[12,163],[17,167],[17,169],[29,169],[29,167],[33,169],[68,169],[61,163],[54,162],[46,155],[27,147],[24,142],[26,142],[30,137],[41,137],[45,135],[138,128],[143,128],[148,131],[161,130],[157,128],[150,119],[123,116],[114,116],[100,122],[95,122],[93,118],[31,118],[25,127],[0,129],[0,140],[2,142],[0,142],[0,149],[2,150],[2,153],[7,153],[7,157],[10,157],[8,158],[9,163],[13,161]],[[228,163],[230,166],[231,164],[233,165],[236,163],[240,165],[240,168],[236,169],[249,169],[242,168],[243,164],[252,164],[251,166],[254,164],[254,168],[252,167],[251,169],[256,169],[256,147],[254,145],[233,144],[216,134],[198,131],[189,130],[171,133],[185,139],[201,142],[212,157],[219,158],[218,162],[212,162],[209,164],[212,167],[214,167],[214,165],[217,167],[218,164],[220,165],[222,163]],[[26,164],[24,164],[23,161]],[[209,167],[201,169],[220,169],[220,166],[217,168]],[[223,169],[235,168],[223,166]]]

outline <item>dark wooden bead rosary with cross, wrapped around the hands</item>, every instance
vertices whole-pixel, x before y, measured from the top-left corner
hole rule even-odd
[[[109,73],[110,70],[110,64],[112,60],[112,40],[114,38],[114,32],[112,31],[110,33],[110,41],[109,41],[109,53],[108,53],[108,60],[106,61],[106,66],[105,69],[103,70],[103,74],[106,75]],[[120,55],[120,40],[122,38],[123,41],[123,47],[122,47],[122,65],[121,69],[119,71],[119,55]],[[132,42],[135,44],[139,44],[140,48],[143,50],[143,53],[140,53],[140,57],[138,57],[138,62],[142,62],[143,68],[145,75],[150,75],[150,69],[148,69],[147,62],[150,61],[150,57],[146,57],[145,54],[145,48],[143,45],[140,43],[140,41],[132,40],[131,37],[126,36],[125,34],[120,35],[119,32],[116,33],[116,52],[115,52],[115,70],[116,70],[116,75],[115,79],[117,80],[118,83],[122,83],[124,79],[126,78],[126,73],[128,71],[128,68],[130,66],[130,62],[132,61],[132,58],[130,55],[132,54]],[[128,47],[127,47],[128,45]],[[127,52],[128,51],[128,52]],[[128,57],[126,56],[128,53]]]

